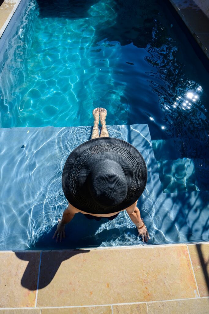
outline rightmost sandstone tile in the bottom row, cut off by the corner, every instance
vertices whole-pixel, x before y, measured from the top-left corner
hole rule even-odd
[[[209,299],[148,303],[149,314],[208,314]]]

